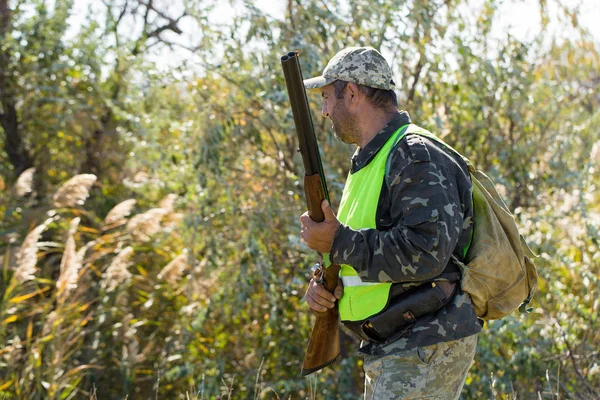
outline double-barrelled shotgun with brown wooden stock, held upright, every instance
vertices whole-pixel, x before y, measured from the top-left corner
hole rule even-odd
[[[300,154],[304,163],[304,194],[308,215],[315,222],[325,219],[321,210],[321,202],[329,201],[329,192],[323,173],[319,145],[315,136],[315,128],[310,115],[308,98],[302,82],[302,71],[298,61],[298,52],[290,52],[281,57],[283,75],[287,86],[294,125],[300,144]],[[322,262],[318,271],[323,284],[333,293],[338,282],[340,266],[338,264],[324,265]],[[324,271],[322,270],[324,268]],[[316,313],[317,314],[317,313]],[[340,360],[340,326],[339,312],[336,307],[317,314],[317,320],[310,336],[308,349],[304,356],[302,375],[306,376]]]

